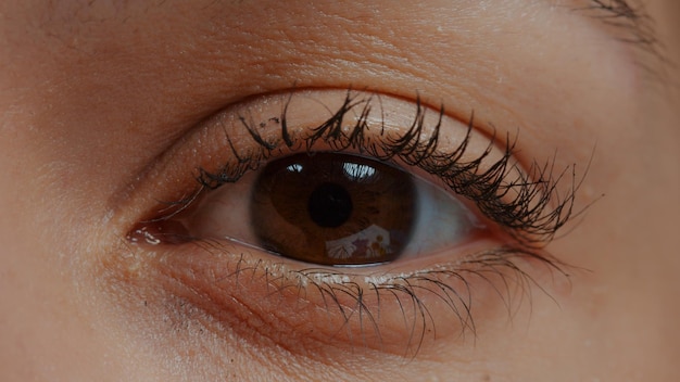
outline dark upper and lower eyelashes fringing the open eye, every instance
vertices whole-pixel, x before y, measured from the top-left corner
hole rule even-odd
[[[496,142],[495,135],[491,137],[490,143],[481,154],[474,160],[463,161],[474,131],[474,114],[467,124],[465,137],[457,148],[446,153],[439,152],[439,126],[444,117],[444,109],[443,106],[439,109],[439,122],[432,127],[431,136],[424,140],[426,128],[429,127],[425,126],[427,107],[421,104],[419,98],[416,98],[416,111],[411,127],[398,137],[382,137],[385,132],[385,125],[382,125],[380,136],[383,139],[376,141],[367,138],[366,133],[369,129],[367,118],[374,102],[379,101],[379,97],[364,98],[348,90],[342,105],[332,113],[330,118],[312,128],[311,136],[295,139],[288,130],[288,106],[291,99],[292,96],[282,107],[279,116],[268,119],[280,125],[279,138],[264,139],[257,132],[257,126],[262,127],[260,124],[239,115],[238,120],[248,130],[250,139],[256,143],[256,149],[244,154],[234,145],[232,140],[226,135],[226,142],[234,161],[216,171],[209,171],[199,167],[196,175],[199,190],[191,193],[188,199],[168,203],[169,207],[162,212],[161,217],[142,221],[141,226],[172,218],[190,207],[202,192],[238,181],[248,171],[256,170],[263,163],[275,157],[279,150],[304,150],[311,153],[315,151],[316,143],[320,142],[333,152],[354,150],[379,161],[395,163],[396,165],[403,163],[423,169],[441,179],[457,195],[473,201],[482,215],[509,234],[514,244],[467,255],[454,263],[390,276],[385,280],[380,277],[365,278],[360,273],[350,272],[349,269],[336,271],[332,268],[310,267],[287,270],[281,275],[280,269],[286,268],[284,262],[257,260],[253,264],[249,263],[248,256],[241,254],[240,257],[237,256],[236,263],[224,267],[225,273],[219,280],[238,280],[248,277],[250,272],[251,277],[260,280],[260,282],[276,282],[275,288],[278,291],[292,289],[297,290],[298,294],[307,295],[312,293],[311,290],[315,290],[326,304],[327,310],[333,308],[333,305],[339,310],[344,320],[343,327],[349,327],[353,319],[357,319],[360,322],[366,321],[368,322],[366,327],[361,326],[362,335],[365,330],[372,328],[378,338],[381,335],[376,317],[379,317],[381,306],[387,304],[387,298],[394,298],[402,310],[404,322],[411,322],[411,335],[405,344],[404,354],[411,354],[415,357],[428,331],[430,329],[435,331],[433,326],[438,319],[432,316],[431,307],[427,305],[429,304],[426,302],[428,296],[433,296],[436,301],[448,306],[454,318],[459,321],[461,334],[467,330],[475,334],[477,326],[471,316],[473,288],[470,286],[474,277],[490,285],[492,293],[503,301],[509,316],[512,316],[517,293],[519,293],[519,303],[524,296],[530,297],[531,285],[538,286],[539,290],[547,294],[522,269],[520,263],[517,263],[520,258],[538,260],[550,272],[556,271],[557,275],[568,278],[565,270],[568,266],[541,249],[554,238],[556,231],[570,217],[578,215],[574,214],[574,203],[575,193],[580,182],[576,181],[575,170],[571,171],[571,186],[568,188],[568,192],[561,196],[557,192],[557,183],[565,178],[568,168],[554,177],[555,161],[553,158],[543,166],[534,163],[528,173],[524,173],[517,164],[511,163],[515,154],[516,139],[509,140],[509,137],[507,137],[502,156],[483,169],[482,162],[492,152]],[[358,111],[356,114],[360,117],[354,126],[349,130],[343,129],[345,127],[344,117],[348,113],[356,111]],[[134,233],[128,237],[131,241],[139,241],[137,239],[140,235],[147,240],[150,238],[148,232],[140,230],[133,230],[131,232]],[[184,239],[186,238],[181,238],[178,242],[190,242],[211,254],[219,255],[230,251],[217,240]],[[173,242],[172,238],[168,242]],[[173,278],[178,277],[174,275]],[[355,278],[363,278],[365,286],[355,281],[360,280]],[[408,314],[402,297],[412,302]],[[377,298],[377,306],[370,307],[370,304],[367,303],[369,298]],[[354,318],[351,313],[348,313],[350,310],[358,311],[358,318]]]

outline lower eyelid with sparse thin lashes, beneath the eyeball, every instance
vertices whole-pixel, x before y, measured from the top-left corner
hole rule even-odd
[[[490,243],[467,249],[473,255],[457,263],[451,254],[431,256],[427,271],[413,264],[308,268],[213,241],[154,246],[154,256],[140,256],[158,278],[152,284],[204,311],[217,332],[230,328],[299,353],[366,348],[410,358],[427,356],[435,340],[464,344],[467,334],[508,319],[514,302],[531,293],[529,273],[517,270],[531,262],[476,252],[481,247]]]

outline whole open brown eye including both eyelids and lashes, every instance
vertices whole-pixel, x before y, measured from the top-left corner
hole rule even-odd
[[[255,97],[164,153],[128,240],[241,335],[414,356],[562,272],[544,246],[574,179],[515,142],[417,97]]]

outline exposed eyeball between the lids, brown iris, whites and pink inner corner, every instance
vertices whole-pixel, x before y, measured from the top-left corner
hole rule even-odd
[[[138,237],[230,240],[314,265],[372,266],[458,244],[475,225],[456,198],[402,168],[319,152],[270,161]]]

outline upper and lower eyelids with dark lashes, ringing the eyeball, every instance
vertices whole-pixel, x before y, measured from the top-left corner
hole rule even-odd
[[[571,216],[574,176],[564,177],[566,170],[553,176],[554,160],[522,168],[513,162],[516,140],[505,140],[499,150],[500,140],[478,133],[475,123],[471,116],[467,124],[452,123],[443,107],[433,111],[417,98],[408,102],[351,90],[249,100],[207,120],[149,171],[153,189],[175,184],[190,196],[159,208],[158,201],[167,200],[159,192],[154,209],[137,220],[128,239],[142,251],[144,243],[154,244],[152,268],[177,298],[242,335],[259,332],[284,347],[349,343],[415,356],[428,333],[432,339],[476,333],[474,310],[482,317],[495,317],[499,308],[509,313],[515,301],[530,297],[538,285],[534,275],[566,276],[542,247]],[[278,157],[318,151],[416,169],[470,201],[505,237],[492,233],[431,256],[338,270],[237,242],[182,235],[172,226],[212,190],[238,183]],[[193,186],[187,187],[181,179],[191,169]],[[500,307],[493,298],[502,301]],[[253,315],[264,324],[250,327]]]

